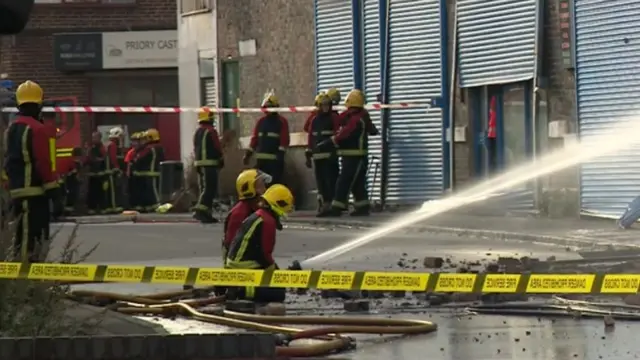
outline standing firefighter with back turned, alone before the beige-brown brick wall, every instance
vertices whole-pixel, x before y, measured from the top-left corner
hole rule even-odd
[[[263,108],[278,107],[280,103],[273,92],[262,101]],[[268,112],[258,119],[253,128],[249,149],[243,158],[245,165],[255,153],[256,169],[273,178],[272,184],[281,184],[284,175],[284,156],[289,147],[289,122],[277,112]]]

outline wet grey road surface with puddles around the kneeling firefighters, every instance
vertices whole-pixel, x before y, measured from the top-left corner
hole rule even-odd
[[[71,231],[63,226],[52,254],[59,252],[63,239]],[[118,224],[85,225],[79,228],[80,253],[99,244],[87,260],[94,263],[137,263],[144,265],[220,265],[220,227],[196,224]],[[281,266],[330,249],[358,234],[360,230],[288,228],[279,234],[277,261]],[[368,244],[323,265],[327,269],[388,269],[420,271],[422,258],[442,256],[460,262],[485,263],[497,256],[530,256],[545,259],[580,258],[564,246],[475,239],[427,233],[394,234]],[[459,265],[460,266],[460,265]],[[462,265],[467,266],[467,265]],[[415,268],[414,268],[415,267]],[[147,293],[175,288],[162,285],[109,284],[85,288],[121,293]],[[332,315],[341,312],[335,300],[300,297],[287,305],[290,309]],[[515,316],[472,316],[428,309],[419,300],[384,299],[374,304],[375,314],[393,313],[393,317],[424,319],[438,324],[436,333],[410,338],[378,336],[358,337],[358,349],[336,356],[343,359],[635,359],[635,338],[640,324],[618,322],[613,331],[605,331],[601,320],[538,319]],[[410,314],[408,312],[411,312]],[[221,331],[183,323],[189,332]]]

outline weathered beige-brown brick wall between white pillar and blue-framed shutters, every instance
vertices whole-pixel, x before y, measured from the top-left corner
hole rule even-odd
[[[315,92],[313,1],[218,1],[218,54],[240,62],[240,101],[257,106],[268,88],[283,105],[311,105]],[[238,41],[256,40],[256,56],[239,58]],[[305,115],[286,114],[291,131],[302,131]],[[241,115],[248,134],[255,114]]]

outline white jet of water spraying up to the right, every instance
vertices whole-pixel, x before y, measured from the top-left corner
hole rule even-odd
[[[303,261],[302,266],[305,268],[317,266],[320,263],[330,261],[351,250],[436,215],[482,201],[496,193],[509,190],[532,179],[581,164],[587,160],[611,155],[631,145],[638,144],[640,143],[640,139],[637,137],[640,132],[639,120],[637,117],[624,119],[605,134],[583,138],[580,142],[534,159],[467,190],[447,196],[439,201],[427,202],[421,209],[413,213],[406,214],[402,218],[371,230],[368,234]]]

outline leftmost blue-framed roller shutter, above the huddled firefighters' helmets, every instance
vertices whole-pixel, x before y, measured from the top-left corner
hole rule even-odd
[[[353,87],[353,11],[351,1],[315,0],[316,84],[318,91]]]

